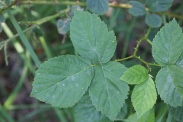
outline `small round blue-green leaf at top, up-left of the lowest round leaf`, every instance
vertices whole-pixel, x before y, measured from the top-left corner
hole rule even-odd
[[[133,16],[143,16],[146,14],[145,6],[138,1],[130,1],[129,4],[132,8],[128,9],[128,12]]]

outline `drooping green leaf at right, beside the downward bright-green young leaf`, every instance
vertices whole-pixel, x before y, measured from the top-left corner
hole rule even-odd
[[[182,106],[183,99],[175,86],[174,78],[168,67],[164,67],[158,72],[155,81],[158,94],[165,103],[173,107]]]

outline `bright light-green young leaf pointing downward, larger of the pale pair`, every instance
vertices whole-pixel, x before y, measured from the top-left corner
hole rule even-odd
[[[156,103],[157,94],[156,88],[152,78],[149,78],[135,86],[132,91],[132,104],[137,112],[137,117],[140,118],[148,110],[150,110]]]

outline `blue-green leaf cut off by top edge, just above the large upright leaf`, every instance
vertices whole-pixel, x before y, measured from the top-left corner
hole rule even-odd
[[[108,10],[109,0],[86,0],[87,9],[96,14],[105,14]]]

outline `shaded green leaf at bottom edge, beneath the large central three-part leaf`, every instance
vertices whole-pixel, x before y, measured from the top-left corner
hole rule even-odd
[[[97,111],[89,95],[83,96],[74,107],[75,122],[110,122],[110,120]]]

